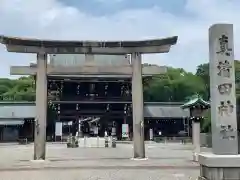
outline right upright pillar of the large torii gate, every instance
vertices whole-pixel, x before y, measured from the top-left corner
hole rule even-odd
[[[145,158],[141,54],[133,53],[131,61],[134,158]]]

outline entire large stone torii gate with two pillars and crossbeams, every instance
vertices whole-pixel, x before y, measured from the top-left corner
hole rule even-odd
[[[132,76],[134,158],[145,158],[142,72],[147,75],[165,73],[166,68],[142,66],[142,54],[168,53],[177,36],[143,41],[55,41],[0,36],[8,52],[37,54],[37,67],[12,67],[11,74],[36,74],[36,126],[34,159],[45,159],[47,117],[47,75],[116,74]],[[112,54],[131,55],[131,65],[92,65],[62,67],[47,65],[47,54]]]

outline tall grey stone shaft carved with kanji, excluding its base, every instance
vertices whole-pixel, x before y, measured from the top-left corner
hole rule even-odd
[[[215,154],[238,154],[233,26],[209,29],[212,144]]]

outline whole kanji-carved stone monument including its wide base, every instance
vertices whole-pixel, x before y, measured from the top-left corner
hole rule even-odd
[[[240,179],[233,25],[209,29],[212,153],[199,155],[199,180]]]

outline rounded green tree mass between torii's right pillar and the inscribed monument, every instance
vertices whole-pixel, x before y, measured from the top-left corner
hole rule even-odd
[[[206,96],[204,81],[183,69],[168,68],[164,78],[154,77],[144,89],[145,101],[185,101],[194,94]]]

